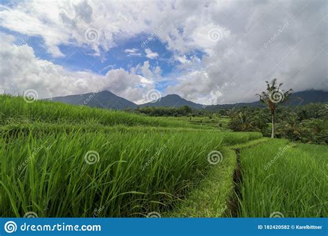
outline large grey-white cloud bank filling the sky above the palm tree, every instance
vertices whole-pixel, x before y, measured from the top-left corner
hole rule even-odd
[[[208,35],[208,46],[205,37],[199,39],[199,46],[207,52],[202,68],[185,70],[179,83],[167,87],[167,93],[203,104],[255,101],[264,81],[274,77],[295,91],[328,90],[327,2],[311,6],[306,1],[230,4],[217,15],[214,10],[208,12],[212,26],[228,31],[214,28],[219,37]],[[188,62],[185,57],[177,59]]]

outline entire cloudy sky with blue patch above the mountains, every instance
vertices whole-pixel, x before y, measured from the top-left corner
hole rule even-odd
[[[327,0],[0,1],[0,92],[109,90],[143,104],[328,90]]]

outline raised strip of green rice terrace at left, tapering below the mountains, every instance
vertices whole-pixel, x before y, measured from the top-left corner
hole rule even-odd
[[[29,124],[34,122],[58,124],[100,124],[103,126],[163,126],[182,128],[210,128],[187,124],[183,121],[168,121],[145,117],[129,112],[101,108],[79,108],[52,101],[26,103],[22,97],[0,95],[0,125]]]

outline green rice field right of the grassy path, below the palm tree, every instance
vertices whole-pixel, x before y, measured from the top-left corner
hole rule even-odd
[[[243,149],[239,217],[328,217],[327,151],[323,161],[280,139]]]

